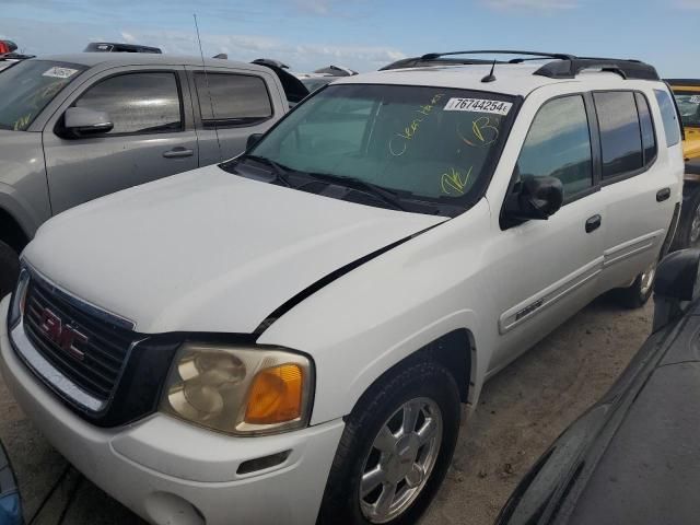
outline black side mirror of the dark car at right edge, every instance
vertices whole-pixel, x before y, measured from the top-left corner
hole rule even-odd
[[[681,249],[664,257],[654,281],[656,331],[680,317],[700,298],[700,249]]]

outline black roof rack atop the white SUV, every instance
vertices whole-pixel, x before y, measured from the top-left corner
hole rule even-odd
[[[623,79],[661,80],[656,69],[640,60],[619,58],[576,57],[563,52],[521,51],[513,49],[482,49],[469,51],[429,52],[420,57],[422,61],[444,60],[444,57],[455,55],[517,55],[517,58],[508,60],[508,63],[522,63],[526,60],[540,60],[553,58],[535,71],[534,74],[551,79],[574,79],[585,69],[599,68],[619,74]]]

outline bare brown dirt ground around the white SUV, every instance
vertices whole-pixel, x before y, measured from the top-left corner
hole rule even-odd
[[[487,384],[422,523],[492,523],[527,468],[615,381],[646,338],[652,312],[651,303],[622,311],[597,300]],[[70,469],[2,384],[0,418],[27,524],[142,523]]]

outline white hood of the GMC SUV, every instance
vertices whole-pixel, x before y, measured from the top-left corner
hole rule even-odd
[[[325,276],[445,220],[209,166],[62,213],[24,257],[137,331],[250,334]]]

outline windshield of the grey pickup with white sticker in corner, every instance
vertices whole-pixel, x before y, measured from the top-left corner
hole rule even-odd
[[[0,129],[25,131],[46,105],[84,66],[24,60],[0,74]]]

